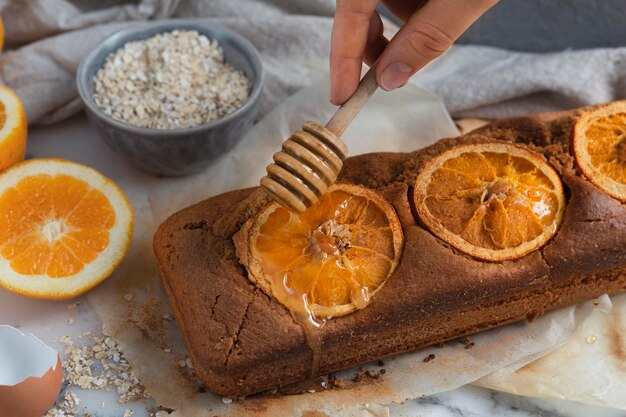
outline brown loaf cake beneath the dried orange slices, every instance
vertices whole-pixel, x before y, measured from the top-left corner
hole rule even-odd
[[[527,319],[626,289],[626,207],[588,181],[569,153],[580,111],[500,120],[412,153],[348,158],[339,182],[378,191],[404,233],[397,269],[367,308],[321,330],[319,374]],[[487,262],[416,221],[411,192],[424,164],[459,144],[515,142],[542,154],[567,197],[546,245]],[[233,236],[269,203],[259,189],[186,208],[158,229],[154,250],[194,368],[206,387],[237,397],[309,377],[312,351],[290,312],[255,286]]]

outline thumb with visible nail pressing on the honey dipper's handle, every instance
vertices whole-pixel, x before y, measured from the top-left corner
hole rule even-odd
[[[452,43],[497,0],[430,0],[415,12],[389,42],[376,64],[378,84],[385,90],[409,78]]]

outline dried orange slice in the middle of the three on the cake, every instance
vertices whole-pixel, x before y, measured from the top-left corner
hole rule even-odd
[[[515,259],[544,245],[563,218],[557,173],[513,144],[460,145],[424,167],[414,203],[435,235],[479,259]]]

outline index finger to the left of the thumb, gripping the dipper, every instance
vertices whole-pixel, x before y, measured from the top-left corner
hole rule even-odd
[[[330,48],[330,101],[333,104],[342,104],[356,90],[377,4],[378,0],[337,0]]]

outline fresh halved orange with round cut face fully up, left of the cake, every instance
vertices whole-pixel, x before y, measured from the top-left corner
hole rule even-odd
[[[128,252],[130,203],[73,162],[32,159],[0,174],[0,285],[67,299],[107,278]]]

